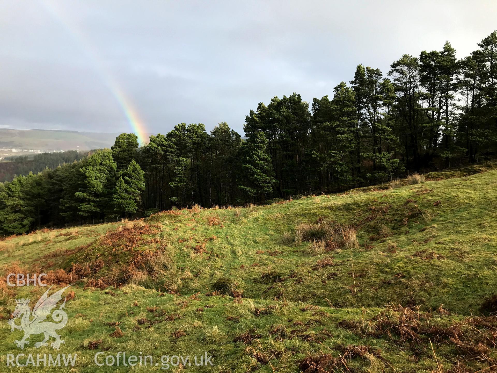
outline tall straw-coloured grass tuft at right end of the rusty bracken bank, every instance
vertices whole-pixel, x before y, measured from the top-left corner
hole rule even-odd
[[[156,254],[151,261],[153,277],[164,288],[171,293],[178,293],[182,286],[181,271],[172,256],[167,252]]]

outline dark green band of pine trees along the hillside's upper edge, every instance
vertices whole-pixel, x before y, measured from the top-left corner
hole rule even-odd
[[[0,233],[145,215],[171,206],[242,204],[373,184],[407,171],[497,154],[497,32],[458,60],[402,56],[385,77],[357,66],[311,108],[293,93],[259,103],[246,139],[220,123],[180,123],[0,184]]]

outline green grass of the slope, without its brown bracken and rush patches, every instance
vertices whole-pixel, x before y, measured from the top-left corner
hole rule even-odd
[[[214,355],[218,372],[298,372],[298,361],[318,353],[342,356],[344,365],[334,365],[337,372],[437,371],[428,339],[433,335],[425,333],[415,343],[409,338],[404,342],[395,332],[392,337],[378,335],[367,332],[364,325],[368,319],[378,324],[376,315],[389,303],[419,305],[419,317],[438,326],[480,312],[483,298],[492,295],[497,285],[496,178],[497,171],[491,171],[396,189],[322,195],[244,208],[240,217],[230,209],[166,212],[149,219],[157,232],[142,235],[132,250],[105,240],[105,232],[114,231],[118,224],[82,227],[78,234],[69,229],[34,233],[5,241],[0,265],[15,262],[31,272],[69,271],[71,263],[101,259],[105,267],[95,276],[108,277],[112,267],[127,264],[139,252],[165,247],[172,253],[181,266],[182,295],[162,295],[135,285],[111,288],[110,293],[84,288],[82,283],[74,286],[75,299],[66,307],[70,320],[61,331],[66,340],[61,352],[81,355],[75,372],[112,371],[86,367],[94,352],[104,349],[113,354],[144,351],[155,356],[208,351]],[[307,243],[283,243],[284,231],[319,218],[357,229],[361,246],[352,259],[343,249],[315,255],[308,252]],[[391,231],[386,237],[380,234],[382,225]],[[61,233],[68,235],[58,236]],[[327,258],[332,266],[316,267]],[[205,295],[220,277],[231,278],[243,298]],[[265,280],[268,277],[274,281]],[[17,288],[15,295],[31,297],[34,304],[42,292],[24,287]],[[196,297],[189,297],[195,293]],[[7,294],[1,300],[5,318],[13,310],[12,299],[13,294]],[[449,315],[422,312],[441,304]],[[147,306],[159,308],[148,311]],[[398,315],[390,309],[386,312]],[[149,321],[140,324],[141,319]],[[362,327],[353,326],[354,320]],[[109,336],[114,328],[107,323],[112,322],[120,322],[121,338]],[[352,326],[339,327],[339,322]],[[244,333],[248,333],[245,339],[252,340],[234,341]],[[10,333],[6,321],[1,323],[0,364],[4,364],[5,353],[19,352],[13,345],[19,337],[19,331]],[[39,338],[33,336],[24,352],[49,353],[49,348],[34,349]],[[100,339],[96,350],[88,350],[90,341]],[[468,354],[442,339],[434,344],[443,366],[440,372],[458,360],[464,361],[468,372],[493,364],[494,348],[483,359],[482,354]],[[347,345],[367,346],[368,351],[347,355],[340,347]],[[266,356],[270,364],[265,363]],[[42,371],[46,370],[39,368]]]

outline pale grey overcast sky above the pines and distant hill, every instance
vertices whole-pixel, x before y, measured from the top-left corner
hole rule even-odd
[[[497,1],[0,0],[0,128],[148,132],[245,116],[274,95],[332,95],[355,66],[459,58],[497,28]]]

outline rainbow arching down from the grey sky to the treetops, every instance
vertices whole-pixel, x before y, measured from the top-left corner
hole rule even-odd
[[[64,14],[60,7],[57,7],[54,3],[48,3],[45,0],[39,0],[39,2],[46,12],[68,31],[73,39],[80,45],[82,51],[88,59],[93,63],[95,71],[113,95],[120,109],[124,113],[124,116],[129,122],[132,131],[138,136],[138,143],[140,145],[148,143],[147,131],[145,130],[143,120],[138,115],[138,111],[133,106],[133,103],[129,97],[126,96],[124,90],[121,89],[112,75],[104,68],[104,64],[98,57],[97,50],[92,46],[88,38],[85,37],[81,29],[74,24],[74,22],[70,23],[68,21],[69,17]]]

